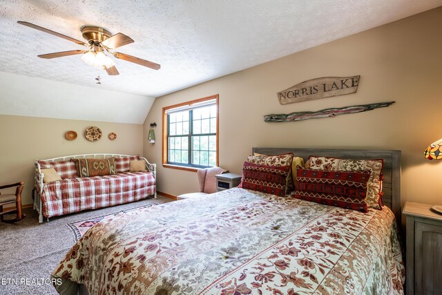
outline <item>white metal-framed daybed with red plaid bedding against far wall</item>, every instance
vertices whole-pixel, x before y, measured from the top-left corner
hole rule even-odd
[[[99,169],[100,165],[104,165],[103,162],[110,162],[111,169],[106,168],[110,171],[108,175],[98,173],[97,176],[80,177],[95,174],[85,173],[89,172],[88,166],[80,166],[83,170],[79,172],[82,174],[78,175],[78,167],[75,166],[75,161],[78,160],[74,159],[90,159],[81,163],[93,163]],[[144,163],[136,162],[140,160]],[[135,161],[132,164],[138,164],[142,168],[129,171],[131,161]],[[46,182],[44,172],[47,173]],[[52,178],[49,174],[55,174],[55,181],[48,179],[49,176]],[[35,161],[34,209],[39,212],[40,223],[43,222],[43,217],[49,220],[53,216],[124,204],[148,196],[157,197],[156,165],[138,155],[100,153]]]

